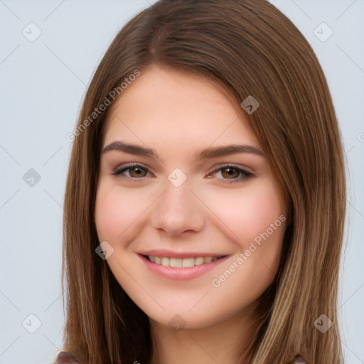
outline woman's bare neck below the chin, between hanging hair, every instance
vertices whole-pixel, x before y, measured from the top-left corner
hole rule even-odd
[[[252,343],[257,323],[255,307],[212,326],[175,330],[153,319],[152,364],[237,364]]]

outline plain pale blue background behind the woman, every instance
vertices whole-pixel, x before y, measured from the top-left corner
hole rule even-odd
[[[50,363],[62,346],[65,135],[109,43],[151,3],[0,0],[1,364]],[[338,114],[350,183],[338,314],[346,363],[364,363],[364,1],[272,3],[314,48]],[[22,34],[31,22],[42,32],[33,42]],[[322,22],[333,30],[325,42],[314,35]],[[30,168],[41,175],[33,187],[22,178]],[[33,334],[22,326],[29,314],[42,323]]]

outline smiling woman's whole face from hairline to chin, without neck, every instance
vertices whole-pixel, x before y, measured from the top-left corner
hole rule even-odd
[[[277,272],[286,206],[240,106],[154,67],[109,111],[95,222],[119,284],[168,326],[247,312]]]

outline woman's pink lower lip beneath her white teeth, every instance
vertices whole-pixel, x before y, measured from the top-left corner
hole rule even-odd
[[[229,257],[227,255],[226,257],[216,259],[215,262],[204,263],[190,268],[172,268],[153,263],[148,258],[144,257],[144,255],[138,255],[151,272],[159,277],[174,279],[176,281],[186,281],[188,279],[200,277],[201,275],[210,272],[210,270],[215,267],[218,267],[218,265],[225,262]]]

